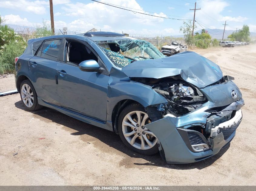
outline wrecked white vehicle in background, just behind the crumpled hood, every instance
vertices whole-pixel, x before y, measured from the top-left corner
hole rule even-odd
[[[172,56],[181,52],[185,52],[188,50],[187,45],[182,45],[177,42],[171,42],[171,44],[167,44],[163,46],[160,50],[166,56]]]

